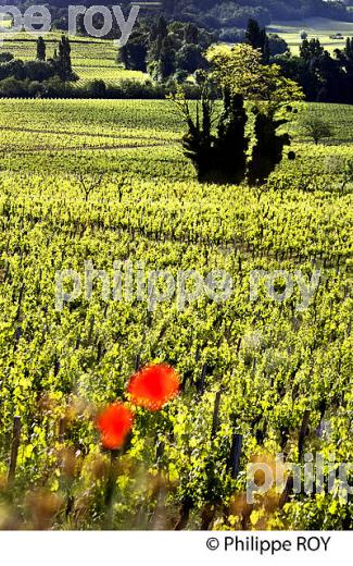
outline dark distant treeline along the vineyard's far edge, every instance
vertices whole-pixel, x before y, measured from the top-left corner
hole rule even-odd
[[[75,84],[79,77],[73,72],[70,39],[63,35],[54,56],[47,60],[46,41],[39,38],[35,61],[0,53],[0,96],[164,98],[182,84],[187,96],[197,98],[200,76],[209,72],[206,50],[213,40],[212,34],[194,24],[168,24],[161,16],[151,28],[140,25],[118,52],[126,69],[148,71],[151,81],[124,81],[117,86],[93,81],[81,86]],[[292,56],[283,39],[268,35],[250,20],[242,41],[261,50],[264,64],[279,65],[286,77],[302,87],[307,101],[353,104],[353,38],[331,56],[318,39],[308,40],[303,32],[300,54]]]

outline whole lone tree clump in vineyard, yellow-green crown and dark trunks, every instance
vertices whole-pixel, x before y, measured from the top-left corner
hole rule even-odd
[[[281,76],[277,65],[264,64],[262,51],[250,45],[216,46],[209,50],[207,59],[211,71],[201,83],[196,119],[182,93],[174,96],[188,127],[182,139],[185,155],[199,181],[264,184],[280,163],[285,146],[290,145],[289,134],[278,128],[291,120],[291,102],[302,100],[303,91]],[[213,84],[223,91],[218,116],[210,90]],[[252,103],[245,104],[247,100]],[[286,110],[278,112],[285,104]],[[247,128],[251,113],[252,139]]]

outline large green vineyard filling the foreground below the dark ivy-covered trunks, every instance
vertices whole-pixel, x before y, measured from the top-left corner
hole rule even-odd
[[[173,102],[1,102],[0,528],[353,528],[337,484],[295,494],[288,475],[245,497],[250,463],[320,453],[327,471],[353,456],[353,110],[312,111],[333,136],[294,132],[297,160],[250,188],[197,182]],[[58,273],[83,280],[87,261],[110,282],[114,262],[134,281],[224,270],[232,291],[149,308],[97,281],[58,308]],[[292,293],[260,282],[253,296],[260,271],[277,295],[297,273]],[[181,383],[159,410],[128,394],[148,364]],[[116,402],[135,419],[118,454],[97,427]]]

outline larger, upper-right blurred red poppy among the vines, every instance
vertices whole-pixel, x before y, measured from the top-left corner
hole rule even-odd
[[[135,373],[127,391],[135,405],[150,410],[161,409],[180,389],[180,380],[174,368],[166,364],[147,366]]]

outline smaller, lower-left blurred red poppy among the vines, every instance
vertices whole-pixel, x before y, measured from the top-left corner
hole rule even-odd
[[[122,403],[113,403],[97,418],[104,448],[118,450],[124,445],[134,423],[133,413]]]

